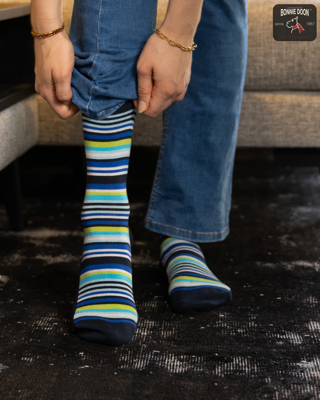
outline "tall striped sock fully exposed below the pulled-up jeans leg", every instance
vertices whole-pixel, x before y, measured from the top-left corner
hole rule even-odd
[[[84,248],[74,329],[109,346],[129,342],[138,315],[132,294],[126,180],[136,117],[127,101],[104,120],[83,116],[87,186],[82,208]]]

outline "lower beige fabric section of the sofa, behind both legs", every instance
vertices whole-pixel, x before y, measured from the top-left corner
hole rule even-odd
[[[39,144],[83,145],[81,114],[60,120],[38,96]],[[290,104],[290,106],[288,106]],[[320,147],[320,92],[245,91],[239,123],[239,147]],[[160,146],[162,116],[138,114],[133,146]]]

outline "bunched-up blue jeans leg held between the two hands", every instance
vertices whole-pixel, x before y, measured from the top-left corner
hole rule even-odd
[[[137,98],[136,63],[156,25],[157,0],[75,0],[72,102],[102,120]]]

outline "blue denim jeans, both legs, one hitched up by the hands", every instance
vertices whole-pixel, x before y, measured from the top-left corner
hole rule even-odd
[[[75,0],[70,31],[80,58],[72,101],[96,119],[137,97],[135,64],[156,14],[154,0],[102,4],[103,10],[98,0]],[[186,95],[164,112],[145,226],[194,242],[217,242],[229,233],[246,68],[246,0],[204,0],[194,41],[198,48]]]

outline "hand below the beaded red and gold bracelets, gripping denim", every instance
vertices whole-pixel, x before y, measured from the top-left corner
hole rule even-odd
[[[64,31],[44,38],[44,44],[40,39],[34,41],[36,92],[65,120],[79,111],[71,102],[71,74],[74,67],[72,43]]]

